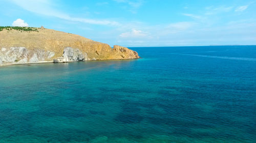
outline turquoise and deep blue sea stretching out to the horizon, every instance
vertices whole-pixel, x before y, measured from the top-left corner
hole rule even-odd
[[[0,142],[256,142],[256,46],[0,67]]]

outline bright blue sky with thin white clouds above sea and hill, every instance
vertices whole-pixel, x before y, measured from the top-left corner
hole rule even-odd
[[[2,26],[43,25],[111,46],[256,44],[253,0],[0,2]]]

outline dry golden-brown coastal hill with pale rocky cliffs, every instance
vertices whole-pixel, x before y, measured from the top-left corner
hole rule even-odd
[[[79,35],[35,27],[0,26],[0,64],[137,59],[136,51],[96,42]]]

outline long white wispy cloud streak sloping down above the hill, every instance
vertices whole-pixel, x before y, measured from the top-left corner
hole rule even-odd
[[[54,9],[54,4],[49,0],[10,0],[10,2],[16,4],[19,7],[22,7],[27,11],[40,15],[53,16],[64,20],[83,22],[88,24],[120,25],[120,23],[112,20],[71,17],[67,13]]]

